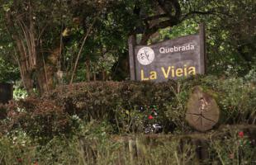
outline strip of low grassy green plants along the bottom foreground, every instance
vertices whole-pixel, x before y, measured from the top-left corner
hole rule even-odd
[[[110,135],[107,123],[92,120],[73,138],[44,145],[21,130],[0,138],[0,164],[254,164],[255,126],[227,126],[208,134]],[[251,134],[253,133],[254,134]],[[253,138],[253,139],[250,139]]]

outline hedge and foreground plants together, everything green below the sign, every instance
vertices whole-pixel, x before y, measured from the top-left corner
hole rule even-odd
[[[195,86],[216,98],[221,124],[255,124],[255,82],[248,78],[79,83],[0,106],[0,164],[254,163],[254,126],[187,135]],[[161,132],[155,124],[180,135],[127,135]]]

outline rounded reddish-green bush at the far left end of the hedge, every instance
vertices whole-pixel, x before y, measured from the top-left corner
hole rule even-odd
[[[75,130],[70,115],[54,101],[27,98],[12,101],[6,108],[7,119],[2,120],[2,131],[8,134],[21,129],[43,143],[55,135],[69,135]]]

